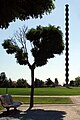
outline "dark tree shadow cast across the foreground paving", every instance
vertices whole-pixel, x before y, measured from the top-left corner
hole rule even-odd
[[[0,120],[63,120],[65,115],[66,112],[57,110],[10,110],[10,114],[8,116],[6,115],[6,111],[1,113]]]

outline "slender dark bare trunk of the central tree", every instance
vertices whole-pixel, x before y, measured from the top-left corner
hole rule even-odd
[[[33,107],[34,97],[34,68],[31,68],[31,96],[30,96],[30,109]]]

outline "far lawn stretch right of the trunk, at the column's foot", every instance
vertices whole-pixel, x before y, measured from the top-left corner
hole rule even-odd
[[[80,95],[80,88],[37,88],[35,89],[35,95]]]

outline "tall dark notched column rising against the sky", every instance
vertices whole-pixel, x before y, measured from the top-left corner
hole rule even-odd
[[[66,86],[69,82],[69,5],[65,5],[65,81]]]

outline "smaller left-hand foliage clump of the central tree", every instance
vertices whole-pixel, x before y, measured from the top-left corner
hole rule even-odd
[[[27,52],[24,52],[24,49],[19,48],[13,40],[5,40],[2,46],[6,49],[8,54],[15,54],[15,58],[20,65],[27,64]]]

